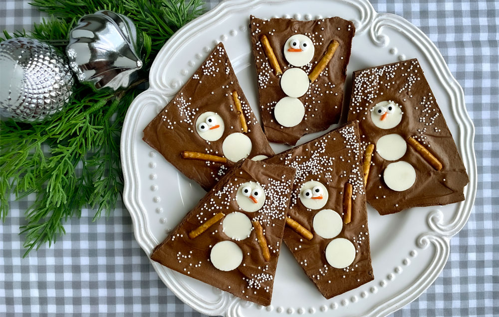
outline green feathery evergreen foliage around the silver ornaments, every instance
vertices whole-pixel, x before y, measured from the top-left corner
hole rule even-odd
[[[21,227],[24,256],[65,234],[64,222],[79,217],[82,208],[97,210],[94,221],[114,209],[123,189],[119,138],[128,106],[165,41],[204,10],[203,0],[33,0],[31,5],[50,19],[35,24],[31,33],[4,31],[0,41],[67,39],[82,15],[107,9],[130,17],[142,32],[145,67],[139,81],[114,94],[76,81],[70,103],[50,120],[0,122],[0,219],[6,220],[11,195],[36,197]],[[57,48],[64,52],[64,46]]]

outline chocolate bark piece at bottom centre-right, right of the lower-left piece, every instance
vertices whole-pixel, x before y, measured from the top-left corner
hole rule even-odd
[[[329,299],[372,281],[357,123],[339,127],[265,162],[296,169],[288,217],[313,237],[308,240],[286,226],[284,242],[322,296]],[[351,185],[349,222],[343,213],[345,188],[350,187],[347,184]],[[316,193],[316,189],[321,191]],[[345,252],[326,252],[341,246],[348,248]]]

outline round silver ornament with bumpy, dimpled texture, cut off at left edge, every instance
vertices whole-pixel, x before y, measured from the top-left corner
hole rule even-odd
[[[64,55],[27,37],[0,43],[0,114],[36,122],[62,110],[74,83]]]

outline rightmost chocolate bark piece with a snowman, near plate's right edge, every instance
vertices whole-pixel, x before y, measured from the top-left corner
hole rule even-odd
[[[367,178],[367,202],[386,215],[411,207],[463,201],[468,174],[418,60],[355,71],[352,86],[348,121],[359,123],[364,149],[368,144],[375,145]],[[392,113],[388,111],[390,105],[394,107]],[[387,113],[381,120],[384,111]],[[414,143],[441,165],[425,157]],[[400,180],[401,174],[391,175],[387,167],[393,167],[393,163],[404,164],[408,171],[406,163],[413,167],[415,180],[407,190],[393,190],[411,185]],[[406,186],[397,187],[400,185]]]

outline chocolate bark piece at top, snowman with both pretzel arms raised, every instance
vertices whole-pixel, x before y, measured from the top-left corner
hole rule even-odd
[[[288,52],[290,43],[287,40],[294,35],[306,35],[311,42],[305,39],[308,48],[308,56],[304,56],[306,62],[303,66],[294,66],[296,60],[292,60],[292,65],[286,56],[290,54],[301,54],[302,52]],[[250,35],[252,52],[256,66],[258,100],[260,105],[261,121],[263,122],[263,130],[267,139],[270,142],[287,143],[294,145],[298,139],[307,134],[327,129],[331,124],[337,123],[341,115],[341,107],[343,104],[343,84],[346,78],[346,67],[350,59],[350,49],[352,38],[355,34],[355,26],[351,21],[344,20],[340,17],[331,17],[312,21],[298,21],[286,18],[271,18],[264,20],[250,16]],[[262,39],[262,35],[265,38]],[[303,37],[304,38],[304,37]],[[269,59],[265,51],[263,42],[268,42],[271,47],[275,59],[280,65],[283,74],[277,74],[275,67]],[[310,76],[315,66],[321,61],[327,53],[328,48],[334,41],[338,42],[338,47],[335,49],[332,58],[326,63],[326,67],[317,79],[311,82],[306,88],[306,92],[302,96],[298,96],[301,92],[296,87],[301,87],[297,82],[301,82],[299,70],[303,70],[305,74]],[[296,50],[301,49],[298,47]],[[311,54],[313,50],[313,56]],[[294,58],[291,56],[291,58]],[[272,59],[272,58],[271,58]],[[310,61],[308,62],[308,59]],[[289,76],[286,71],[290,69],[296,72]],[[302,72],[301,72],[302,73]],[[303,74],[303,73],[302,73]],[[287,79],[285,77],[288,77]],[[287,93],[281,88],[281,78],[287,82],[291,82]],[[306,82],[306,77],[305,77]],[[296,93],[296,94],[295,94]],[[298,96],[295,101],[289,104],[288,107],[281,112],[274,112],[277,102],[285,98],[289,94]],[[304,116],[301,121],[295,126],[284,127],[277,122],[275,114],[283,115],[295,113],[291,110],[296,106],[298,99],[304,106]],[[296,106],[297,110],[299,104]],[[297,118],[299,120],[299,118]],[[290,123],[293,124],[293,123]]]

